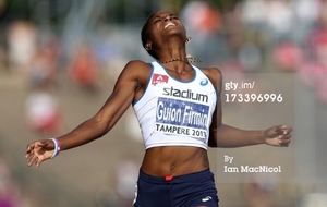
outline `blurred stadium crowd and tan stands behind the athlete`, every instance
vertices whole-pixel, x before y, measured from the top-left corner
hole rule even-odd
[[[153,61],[140,33],[157,10],[180,15],[198,66],[219,68],[226,82],[256,80],[250,93],[286,98],[223,101],[230,125],[294,132],[288,148],[209,149],[220,205],[327,206],[325,0],[0,0],[0,207],[131,206],[144,151],[132,110],[101,139],[40,168],[28,168],[24,154],[28,143],[95,114],[129,60]],[[238,165],[281,165],[282,179],[223,174],[225,155]]]

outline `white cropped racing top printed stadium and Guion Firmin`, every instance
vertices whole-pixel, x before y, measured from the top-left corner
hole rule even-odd
[[[133,108],[145,148],[194,146],[208,148],[209,126],[217,93],[196,66],[187,82],[170,76],[158,62],[152,62],[147,88]]]

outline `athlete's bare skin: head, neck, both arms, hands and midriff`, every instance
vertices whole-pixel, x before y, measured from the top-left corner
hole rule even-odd
[[[179,17],[167,11],[159,11],[148,20],[149,36],[144,47],[150,50],[158,61],[168,61],[186,56],[187,39],[184,25]],[[165,63],[168,73],[180,81],[194,77],[194,70],[186,59]],[[201,69],[221,94],[222,74],[217,68]],[[70,133],[59,136],[61,150],[71,149],[107,134],[133,101],[145,92],[152,68],[141,60],[130,61],[118,77],[113,92],[90,119],[83,122]],[[292,129],[276,125],[267,130],[245,131],[226,125],[221,122],[221,98],[217,99],[217,108],[209,129],[210,147],[242,147],[257,144],[270,146],[288,146],[291,142]],[[28,166],[39,167],[53,153],[53,142],[37,141],[27,145],[25,158]],[[190,146],[161,146],[145,151],[141,170],[154,176],[181,175],[209,169],[207,150]]]

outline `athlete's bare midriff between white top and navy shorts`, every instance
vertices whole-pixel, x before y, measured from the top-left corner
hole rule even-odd
[[[209,168],[207,150],[190,146],[154,147],[145,151],[141,170],[153,176],[182,175]]]

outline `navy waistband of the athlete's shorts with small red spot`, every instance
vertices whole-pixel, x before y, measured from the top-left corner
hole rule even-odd
[[[193,172],[190,174],[182,174],[178,176],[153,176],[150,174],[146,174],[140,170],[138,178],[152,183],[158,183],[158,184],[167,184],[167,183],[183,183],[187,181],[202,181],[202,180],[208,180],[213,176],[213,172],[210,169],[199,171],[199,172]]]

